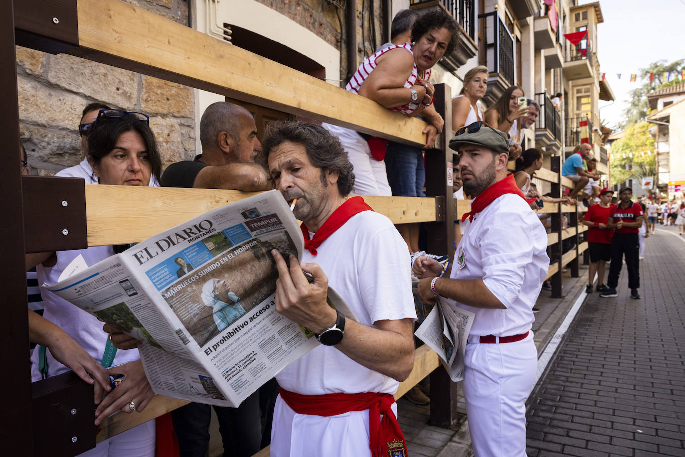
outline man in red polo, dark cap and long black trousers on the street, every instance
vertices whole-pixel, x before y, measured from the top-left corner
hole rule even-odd
[[[609,290],[599,294],[600,297],[617,297],[619,295],[616,293],[616,286],[619,285],[619,273],[621,273],[623,254],[625,254],[630,297],[640,298],[640,294],[638,294],[640,287],[638,230],[643,225],[645,217],[642,206],[630,200],[632,196],[632,188],[622,188],[619,191],[619,203],[609,210],[607,226],[610,229],[616,229],[616,232],[611,239],[611,264],[609,265],[609,278],[607,280]]]

